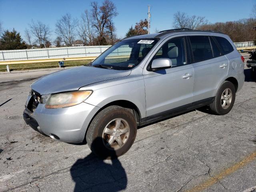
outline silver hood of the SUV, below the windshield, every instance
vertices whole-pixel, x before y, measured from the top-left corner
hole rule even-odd
[[[38,79],[31,85],[41,95],[78,90],[79,88],[114,78],[130,75],[131,70],[113,70],[80,66],[54,72]]]

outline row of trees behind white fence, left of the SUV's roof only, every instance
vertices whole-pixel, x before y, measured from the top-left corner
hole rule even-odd
[[[80,18],[74,18],[70,13],[66,13],[56,21],[55,29],[50,29],[49,25],[41,21],[34,21],[28,24],[24,31],[24,38],[27,44],[20,37],[15,29],[4,30],[2,33],[2,23],[0,23],[0,50],[49,47],[52,43],[57,47],[62,45],[71,46],[75,40],[81,40],[82,44],[91,45],[112,45],[119,41],[116,35],[116,27],[113,18],[118,15],[115,4],[111,0],[104,0],[100,5],[98,2],[90,3],[90,10],[85,10]],[[50,42],[52,33],[57,35],[56,39]],[[6,46],[8,42],[17,42],[24,46]]]

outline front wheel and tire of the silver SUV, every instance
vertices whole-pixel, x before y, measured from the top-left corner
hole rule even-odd
[[[109,106],[92,120],[86,134],[86,141],[98,157],[114,159],[130,149],[136,133],[137,123],[132,110],[120,106]]]

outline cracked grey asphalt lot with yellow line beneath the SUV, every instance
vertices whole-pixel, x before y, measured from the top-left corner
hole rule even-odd
[[[1,192],[254,189],[256,82],[247,67],[230,113],[215,116],[202,108],[140,127],[132,148],[113,161],[96,158],[86,144],[58,142],[25,124],[29,86],[47,73],[23,73],[18,80],[0,75]]]

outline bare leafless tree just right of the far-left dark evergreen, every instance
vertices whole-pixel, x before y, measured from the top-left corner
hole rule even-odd
[[[35,43],[38,43],[40,47],[43,48],[51,33],[49,26],[46,26],[40,21],[34,22],[34,20],[32,20],[28,26],[35,38]]]

